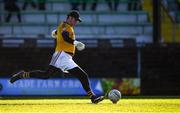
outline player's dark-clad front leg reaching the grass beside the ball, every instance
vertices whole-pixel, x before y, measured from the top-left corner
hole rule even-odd
[[[68,72],[70,72],[70,74],[72,74],[80,80],[84,90],[87,92],[87,95],[91,98],[92,103],[97,104],[104,99],[104,96],[96,96],[93,93],[93,91],[90,88],[88,74],[84,70],[82,70],[80,67],[75,67],[73,69],[68,70]]]

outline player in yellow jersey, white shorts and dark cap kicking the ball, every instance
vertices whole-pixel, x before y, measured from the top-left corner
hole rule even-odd
[[[63,72],[69,72],[80,80],[92,103],[97,104],[102,101],[104,96],[96,96],[93,93],[89,84],[87,73],[83,71],[72,59],[75,54],[75,47],[79,51],[85,49],[85,45],[82,42],[75,40],[73,27],[78,21],[82,21],[79,12],[71,11],[68,13],[66,21],[61,22],[58,28],[52,32],[52,37],[56,38],[56,49],[49,64],[49,68],[46,71],[20,71],[11,77],[10,82],[14,83],[15,81],[23,78],[48,79],[50,75],[57,71],[57,69],[61,69]]]

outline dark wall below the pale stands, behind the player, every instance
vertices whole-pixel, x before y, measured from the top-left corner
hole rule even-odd
[[[21,69],[46,69],[54,48],[1,46],[0,52],[0,76],[8,78]],[[91,78],[138,77],[143,95],[180,95],[179,58],[179,44],[148,44],[142,47],[90,47],[77,52],[74,60]],[[63,74],[59,72],[54,77],[59,75]]]

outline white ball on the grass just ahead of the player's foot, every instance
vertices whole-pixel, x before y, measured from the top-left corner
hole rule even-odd
[[[116,104],[121,98],[121,92],[117,89],[113,89],[108,93],[108,98],[113,104]]]

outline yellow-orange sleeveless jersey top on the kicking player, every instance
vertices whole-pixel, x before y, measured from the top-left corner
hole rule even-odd
[[[75,40],[74,29],[71,25],[66,22],[62,22],[57,28],[57,40],[56,40],[56,52],[64,51],[74,54],[75,46],[63,39],[62,32],[66,31],[69,33],[69,38]]]

